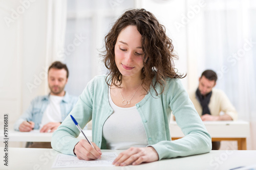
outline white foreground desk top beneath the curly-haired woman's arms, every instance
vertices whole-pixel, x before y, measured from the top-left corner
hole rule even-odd
[[[3,148],[0,148],[3,151]],[[102,150],[102,152],[117,152],[121,150]],[[53,149],[30,149],[30,148],[9,148],[9,166],[3,164],[3,157],[0,169],[61,169],[51,168],[57,151]],[[3,155],[3,154],[2,154]],[[144,163],[135,166],[124,167],[91,167],[91,168],[65,168],[69,169],[120,169],[120,170],[141,170],[141,169],[231,169],[239,166],[255,164],[256,151],[211,151],[210,153],[188,157],[164,159],[151,163]],[[5,167],[5,168],[4,168]],[[63,169],[63,168],[62,168]]]

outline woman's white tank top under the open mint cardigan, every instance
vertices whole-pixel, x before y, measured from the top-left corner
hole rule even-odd
[[[103,126],[103,137],[108,149],[129,149],[130,147],[146,147],[148,145],[146,132],[136,106],[130,108],[118,107],[111,99],[113,114],[106,119]]]

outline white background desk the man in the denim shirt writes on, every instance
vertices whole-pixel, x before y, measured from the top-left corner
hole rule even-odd
[[[83,130],[86,137],[92,141],[92,130]],[[50,142],[52,140],[53,133],[40,133],[39,130],[33,130],[31,132],[18,132],[10,130],[8,132],[9,141],[20,142]],[[0,134],[0,141],[3,141],[4,133]],[[82,133],[78,136],[78,139],[84,139]]]

